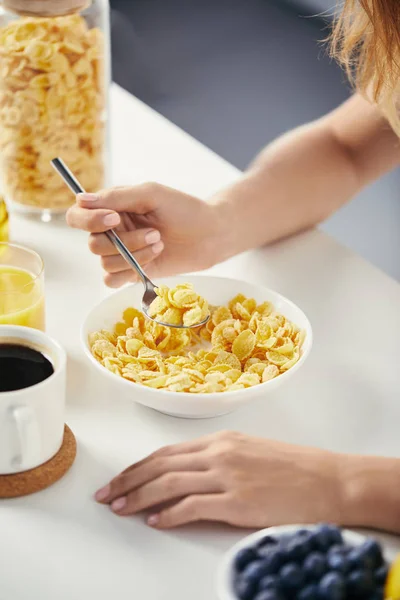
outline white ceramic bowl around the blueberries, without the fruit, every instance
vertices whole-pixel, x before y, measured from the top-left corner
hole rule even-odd
[[[294,533],[297,529],[314,529],[315,526],[310,525],[282,525],[280,527],[269,527],[268,529],[262,529],[256,533],[252,533],[247,537],[240,540],[237,544],[232,546],[230,550],[224,555],[217,573],[217,592],[218,600],[238,600],[234,588],[234,560],[239,552],[243,548],[254,546],[266,535],[274,535],[279,537],[285,533]],[[348,529],[342,530],[343,538],[347,544],[351,546],[360,546],[366,537],[349,531]],[[387,558],[387,557],[386,557]]]

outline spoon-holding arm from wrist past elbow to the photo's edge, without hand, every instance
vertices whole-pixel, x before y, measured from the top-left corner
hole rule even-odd
[[[227,223],[227,253],[316,225],[399,162],[399,140],[388,123],[353,96],[267,146],[243,179],[211,199]]]

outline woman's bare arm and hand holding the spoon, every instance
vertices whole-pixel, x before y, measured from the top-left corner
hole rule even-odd
[[[399,158],[384,118],[354,96],[268,146],[209,203],[151,183],[78,196],[67,221],[93,234],[89,246],[102,257],[105,281],[119,287],[135,274],[102,235],[111,227],[153,277],[200,271],[316,225]]]

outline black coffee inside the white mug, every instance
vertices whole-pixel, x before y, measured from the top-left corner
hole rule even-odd
[[[38,350],[0,342],[0,392],[22,390],[44,381],[53,373],[53,365]]]

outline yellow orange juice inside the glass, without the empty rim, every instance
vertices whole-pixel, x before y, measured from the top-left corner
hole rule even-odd
[[[25,269],[0,265],[0,325],[45,329],[43,283]]]

